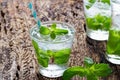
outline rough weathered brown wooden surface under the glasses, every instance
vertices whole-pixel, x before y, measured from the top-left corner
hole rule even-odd
[[[28,2],[34,4],[41,21],[65,21],[74,25],[74,39],[69,66],[83,66],[85,56],[94,61],[104,59],[106,41],[86,37],[82,0],[0,0],[0,80],[62,80],[49,79],[38,72],[38,64],[29,37],[35,24]],[[110,64],[113,73],[102,80],[120,80],[120,66]],[[75,76],[72,80],[86,80]]]

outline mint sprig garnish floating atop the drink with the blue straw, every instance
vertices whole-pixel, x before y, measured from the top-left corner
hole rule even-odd
[[[55,39],[56,35],[68,34],[68,30],[57,28],[55,23],[53,23],[50,27],[41,26],[39,32],[42,35],[50,35],[52,39]]]

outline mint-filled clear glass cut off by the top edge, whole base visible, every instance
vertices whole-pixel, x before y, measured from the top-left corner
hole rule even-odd
[[[83,0],[87,36],[94,40],[107,40],[111,27],[110,0]]]

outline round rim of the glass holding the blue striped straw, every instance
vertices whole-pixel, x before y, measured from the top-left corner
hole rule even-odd
[[[69,23],[61,22],[61,21],[46,21],[46,22],[42,22],[41,25],[44,25],[44,24],[52,24],[52,23],[63,24],[63,25],[69,26],[69,27],[71,28],[72,32],[73,32],[72,37],[67,38],[67,39],[65,39],[65,40],[55,41],[55,42],[40,40],[40,39],[35,38],[35,37],[33,37],[33,36],[31,35],[33,29],[34,29],[34,28],[37,28],[37,24],[36,24],[36,25],[34,25],[34,26],[29,30],[31,39],[34,39],[35,41],[37,40],[38,42],[43,42],[43,43],[62,43],[62,42],[66,42],[66,41],[69,41],[69,40],[71,40],[71,39],[74,38],[74,35],[75,35],[75,28],[73,27],[73,25],[71,25],[71,24],[69,24]],[[68,28],[69,28],[69,27],[68,27]]]

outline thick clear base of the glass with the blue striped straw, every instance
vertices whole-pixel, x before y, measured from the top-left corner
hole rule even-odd
[[[48,65],[47,68],[40,67],[41,75],[49,78],[61,77],[63,72],[67,69],[67,66],[59,66],[55,64]]]

